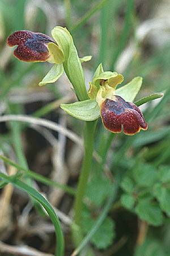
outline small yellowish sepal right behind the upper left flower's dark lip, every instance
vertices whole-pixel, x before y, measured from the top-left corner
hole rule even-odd
[[[47,47],[50,53],[50,57],[48,59],[49,63],[61,64],[64,62],[65,58],[61,47],[54,43],[48,43]]]

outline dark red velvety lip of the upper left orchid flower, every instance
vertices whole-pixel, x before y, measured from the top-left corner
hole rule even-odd
[[[49,36],[27,30],[16,31],[7,38],[8,46],[18,46],[14,51],[15,57],[28,62],[48,60],[48,43],[54,43]]]

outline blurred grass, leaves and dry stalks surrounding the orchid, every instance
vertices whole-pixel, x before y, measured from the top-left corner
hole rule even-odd
[[[122,73],[125,83],[142,76],[138,98],[164,92],[162,99],[141,108],[146,132],[114,135],[97,123],[82,220],[83,236],[96,232],[80,255],[169,256],[169,10],[168,0],[0,1],[1,255],[54,255],[54,228],[62,244],[56,213],[64,255],[79,243],[70,227],[83,122],[59,109],[59,104],[75,101],[71,85],[62,76],[56,84],[38,86],[50,64],[22,63],[6,46],[13,31],[50,35],[58,25],[70,30],[80,56],[93,56],[83,64],[87,88],[102,62],[105,70]],[[18,115],[18,121],[9,114]]]

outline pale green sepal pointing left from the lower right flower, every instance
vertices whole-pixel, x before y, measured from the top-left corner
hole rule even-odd
[[[61,104],[61,108],[72,117],[83,121],[94,121],[100,117],[100,109],[96,101],[86,100]]]

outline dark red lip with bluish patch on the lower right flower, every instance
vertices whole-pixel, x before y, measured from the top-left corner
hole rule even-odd
[[[112,133],[121,133],[122,127],[127,135],[147,130],[141,110],[120,96],[114,96],[113,100],[106,98],[100,105],[100,115],[103,125]]]

